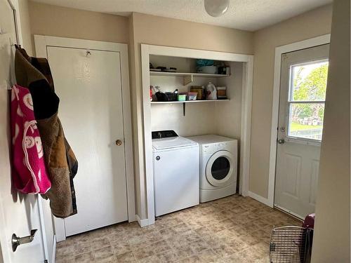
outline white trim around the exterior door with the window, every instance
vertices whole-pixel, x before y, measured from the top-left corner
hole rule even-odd
[[[324,34],[312,39],[305,39],[295,43],[275,48],[274,58],[274,83],[273,83],[273,100],[272,100],[272,130],[270,133],[270,170],[268,177],[268,197],[267,205],[274,207],[274,189],[275,189],[275,170],[277,162],[277,135],[279,120],[279,93],[280,93],[280,73],[282,66],[282,54],[293,52],[305,48],[312,48],[330,43],[331,34]]]

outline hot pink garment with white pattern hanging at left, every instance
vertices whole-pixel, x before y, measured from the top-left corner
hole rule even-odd
[[[45,194],[51,182],[44,163],[32,96],[27,88],[15,85],[11,91],[11,137],[13,184],[25,194]]]

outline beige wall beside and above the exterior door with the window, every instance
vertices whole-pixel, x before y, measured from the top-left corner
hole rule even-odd
[[[331,10],[331,5],[317,8],[254,34],[249,190],[264,198],[268,194],[275,48],[330,33]]]

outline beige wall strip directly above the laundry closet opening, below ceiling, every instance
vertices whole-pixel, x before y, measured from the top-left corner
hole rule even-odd
[[[251,32],[141,13],[133,21],[138,43],[253,54]]]

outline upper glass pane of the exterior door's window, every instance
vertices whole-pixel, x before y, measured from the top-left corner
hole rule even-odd
[[[328,61],[291,67],[291,101],[325,100]]]

